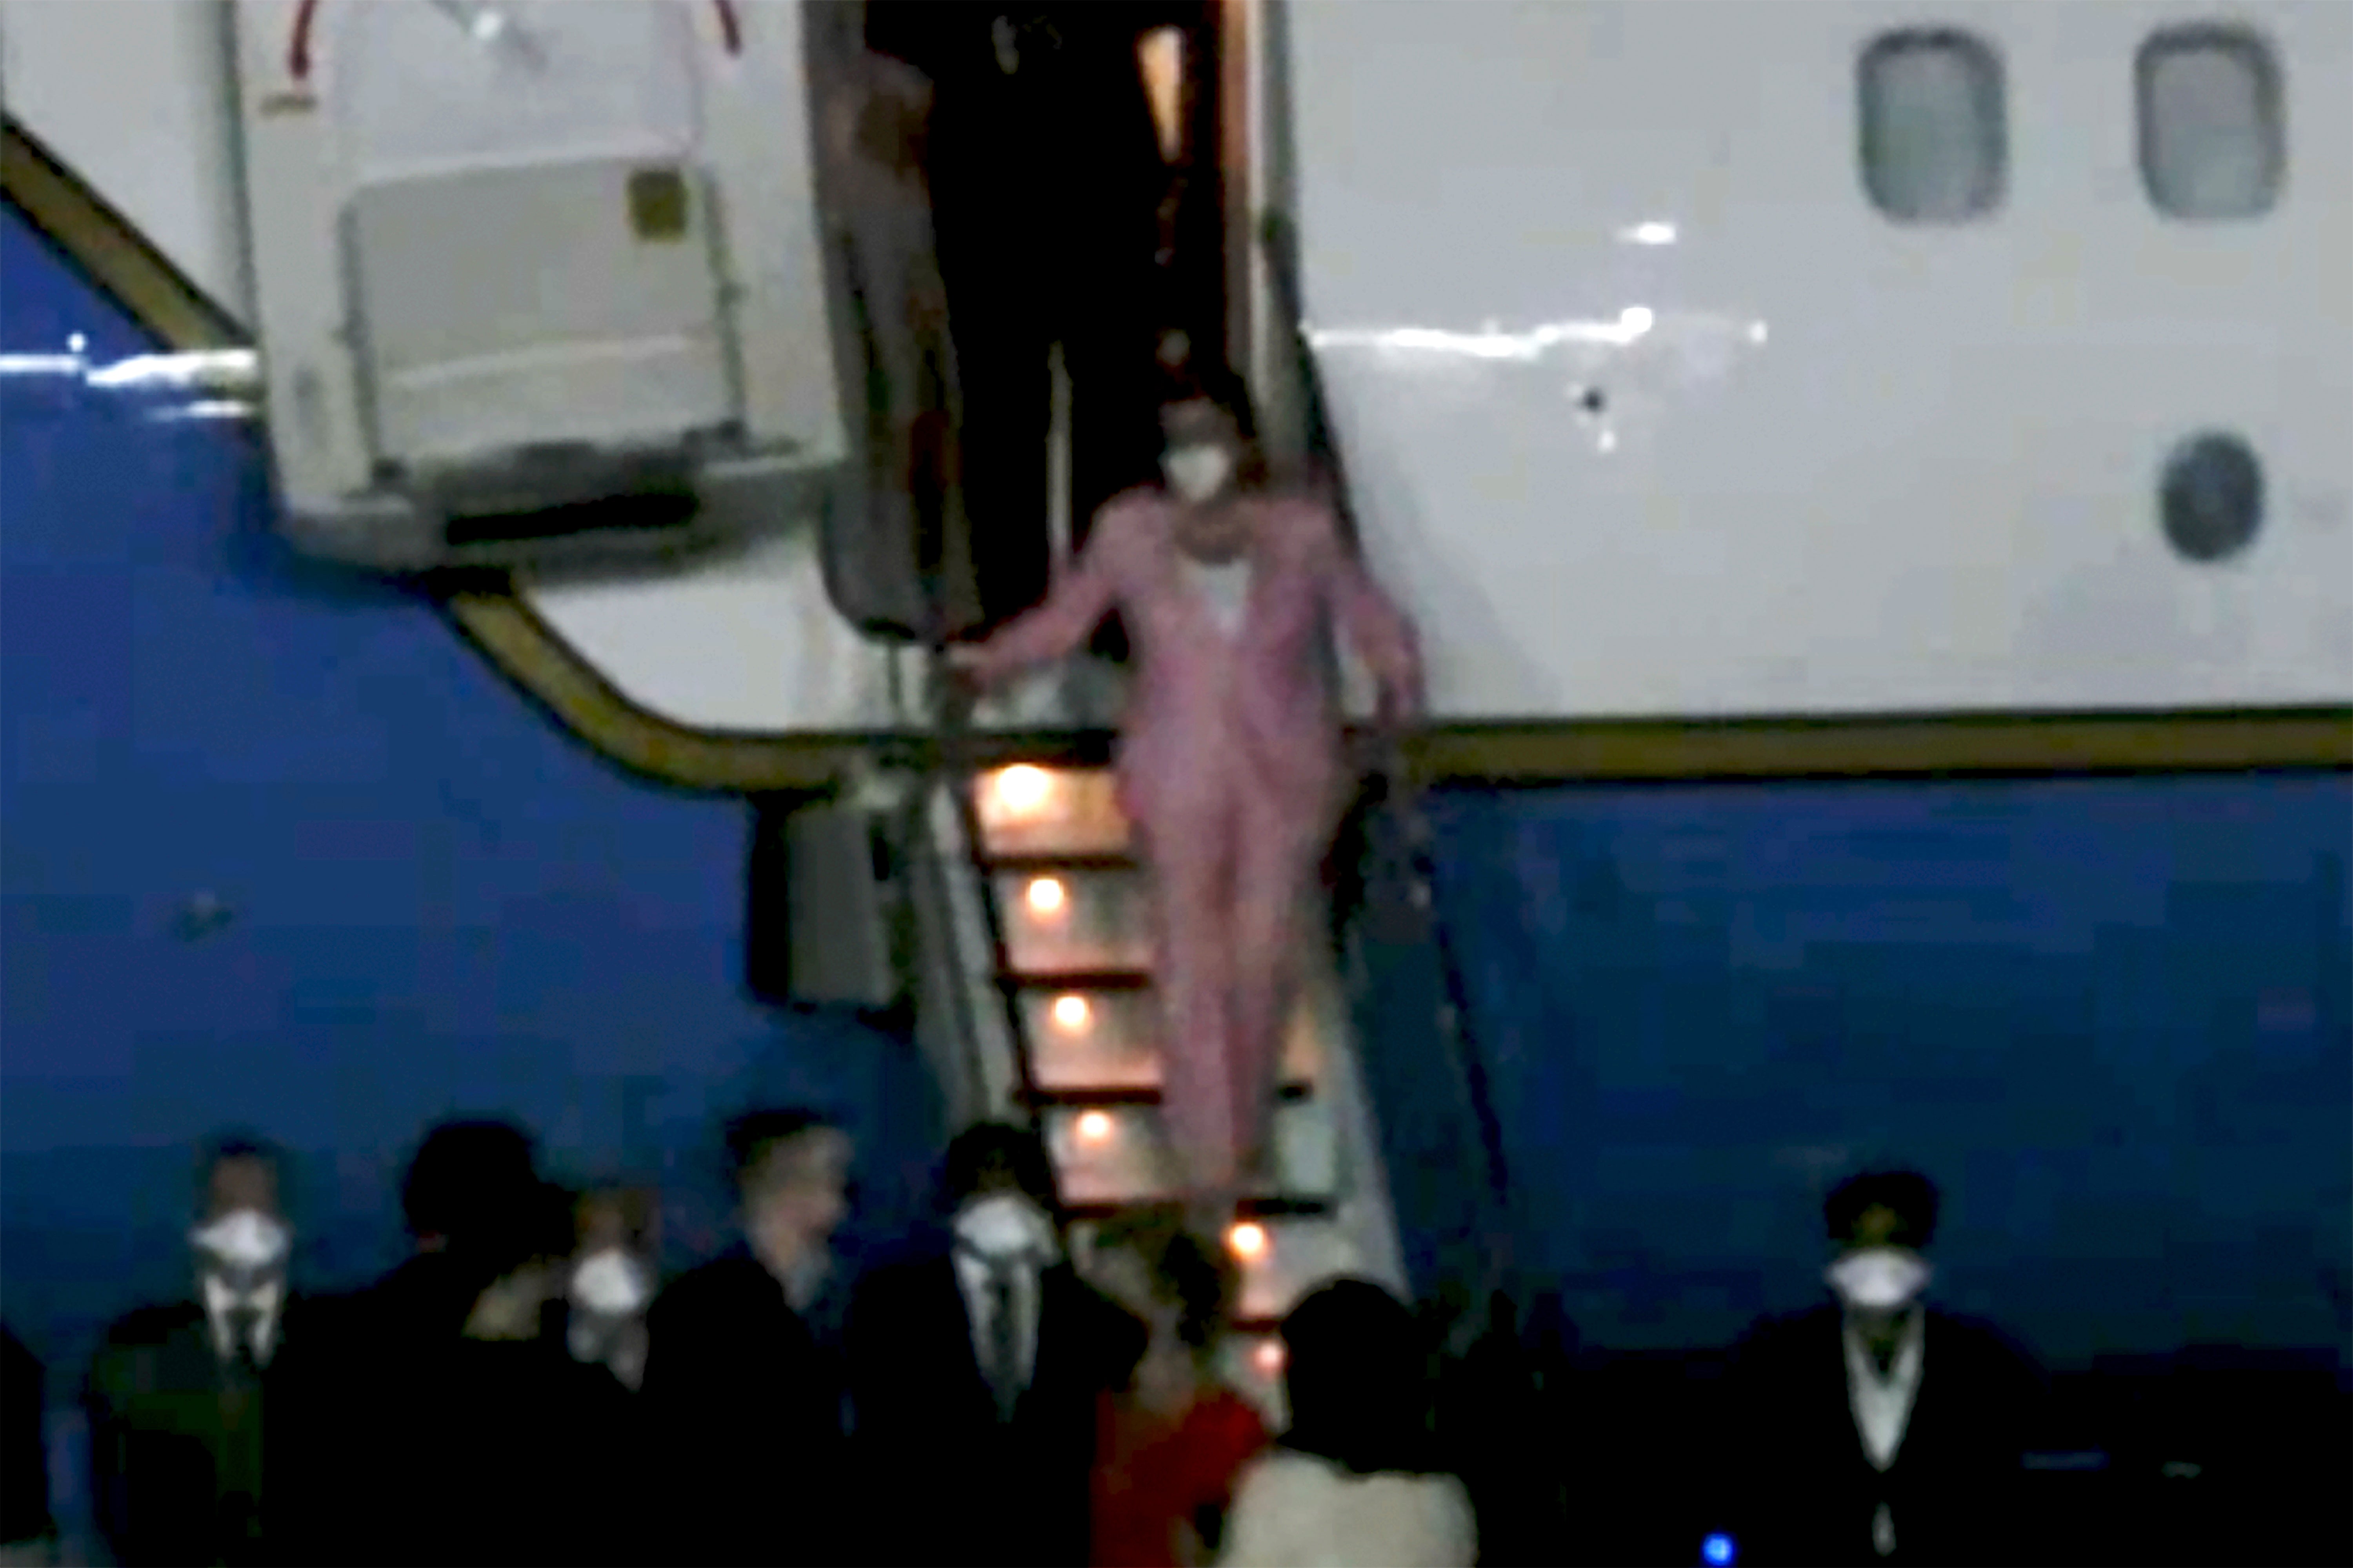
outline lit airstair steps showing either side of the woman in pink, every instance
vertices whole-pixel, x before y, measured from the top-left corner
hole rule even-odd
[[[981,1116],[1033,1121],[1054,1158],[1071,1253],[1087,1267],[1096,1227],[1179,1196],[1181,1165],[1160,1118],[1158,998],[1144,869],[1111,770],[1007,763],[941,770],[927,798],[944,918],[925,996],[951,1012]],[[1275,1114],[1275,1180],[1226,1234],[1242,1293],[1221,1347],[1226,1377],[1280,1422],[1275,1326],[1341,1274],[1407,1295],[1388,1182],[1339,975],[1311,923]],[[944,951],[946,949],[946,951]],[[946,991],[953,989],[953,996]]]

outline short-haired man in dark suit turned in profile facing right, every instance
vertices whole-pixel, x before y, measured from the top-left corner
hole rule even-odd
[[[849,1212],[849,1156],[814,1111],[727,1125],[744,1243],[673,1281],[647,1318],[664,1561],[842,1561],[842,1382],[805,1314]]]

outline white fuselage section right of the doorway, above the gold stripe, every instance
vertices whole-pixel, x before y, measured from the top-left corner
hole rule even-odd
[[[1435,706],[2353,697],[2353,9],[2252,14],[2282,200],[2181,224],[2134,52],[2186,7],[1297,5],[1306,308]],[[2000,54],[1981,221],[1864,191],[1857,59],[1911,19]],[[2268,506],[2191,565],[2158,480],[2207,428]]]

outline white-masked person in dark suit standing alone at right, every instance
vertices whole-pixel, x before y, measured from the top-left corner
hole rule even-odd
[[[1767,1321],[1734,1351],[1739,1561],[2035,1561],[2019,1479],[2042,1380],[1993,1326],[1922,1304],[1937,1187],[1864,1172],[1824,1220],[1835,1304]]]

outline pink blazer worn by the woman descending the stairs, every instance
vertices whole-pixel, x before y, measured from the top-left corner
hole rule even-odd
[[[1129,490],[1096,516],[1087,549],[1054,593],[988,638],[972,673],[993,683],[1066,657],[1125,612],[1141,655],[1120,723],[1120,796],[1132,819],[1169,822],[1240,772],[1271,805],[1327,817],[1339,805],[1341,716],[1320,645],[1339,622],[1395,718],[1421,711],[1414,626],[1341,542],[1332,513],[1304,499],[1252,497],[1252,582],[1228,636],[1184,574],[1174,506]]]

